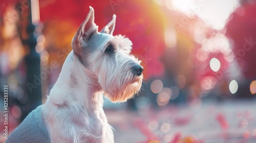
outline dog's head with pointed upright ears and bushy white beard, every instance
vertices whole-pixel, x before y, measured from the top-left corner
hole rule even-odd
[[[100,32],[90,7],[72,40],[75,55],[81,64],[97,77],[97,82],[112,102],[125,102],[140,90],[143,67],[131,55],[132,42],[124,36],[113,36],[116,15]]]

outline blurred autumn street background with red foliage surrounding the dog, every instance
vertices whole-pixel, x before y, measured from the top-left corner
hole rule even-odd
[[[133,42],[141,92],[104,99],[115,142],[256,142],[253,0],[2,0],[0,111],[8,84],[9,134],[44,104],[89,6],[101,30]],[[0,116],[0,142],[4,117]]]

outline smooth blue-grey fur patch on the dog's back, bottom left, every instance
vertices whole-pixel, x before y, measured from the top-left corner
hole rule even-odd
[[[29,113],[25,120],[10,134],[6,143],[48,143],[50,136],[41,115],[41,107]]]

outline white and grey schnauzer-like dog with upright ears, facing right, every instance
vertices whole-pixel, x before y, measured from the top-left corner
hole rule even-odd
[[[113,15],[98,32],[90,7],[46,103],[25,118],[7,143],[114,142],[103,95],[125,102],[140,90],[143,79],[140,61],[130,55],[132,42],[112,35],[115,21]]]

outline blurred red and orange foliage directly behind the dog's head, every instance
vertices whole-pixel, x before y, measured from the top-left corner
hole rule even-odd
[[[163,14],[154,2],[143,1],[39,1],[41,21],[69,20],[79,27],[89,6],[95,10],[95,23],[101,30],[117,15],[115,34],[126,35],[133,42],[132,53],[142,60],[144,77],[163,74],[159,57],[165,47]],[[75,32],[75,31],[74,31]],[[150,69],[150,70],[149,70]]]

